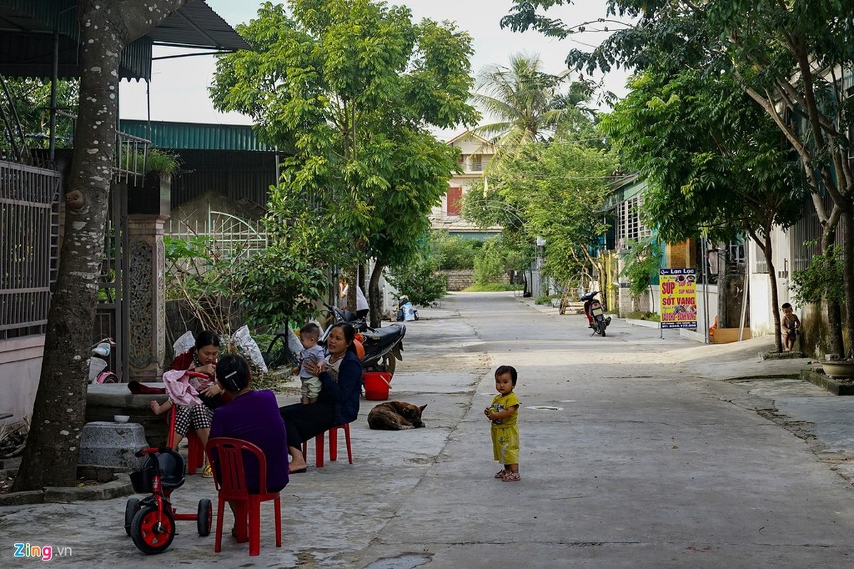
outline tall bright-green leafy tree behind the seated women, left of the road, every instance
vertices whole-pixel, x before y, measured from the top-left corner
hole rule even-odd
[[[370,0],[289,5],[290,16],[265,3],[238,26],[254,50],[220,57],[211,94],[218,109],[253,117],[266,141],[294,149],[275,192],[316,200],[313,222],[335,227],[349,272],[375,259],[378,325],[383,267],[414,254],[456,166],[455,150],[427,128],[477,119],[467,103],[471,38]]]

